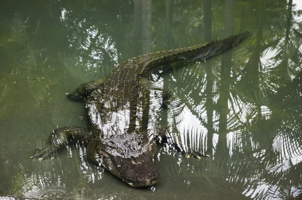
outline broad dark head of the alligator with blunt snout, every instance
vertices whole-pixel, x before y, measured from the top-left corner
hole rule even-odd
[[[157,183],[160,174],[154,162],[156,150],[155,141],[136,132],[93,140],[87,149],[94,162],[133,187]]]

